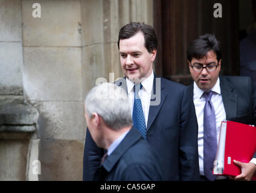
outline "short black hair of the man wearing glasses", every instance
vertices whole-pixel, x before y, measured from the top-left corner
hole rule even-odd
[[[197,37],[187,49],[187,60],[191,62],[193,58],[202,59],[209,51],[214,51],[219,62],[222,59],[220,42],[214,34],[204,34]]]

